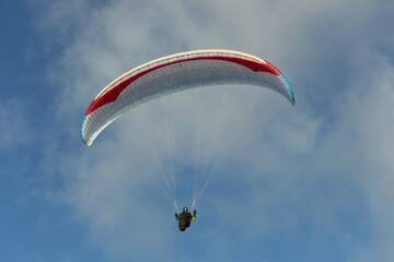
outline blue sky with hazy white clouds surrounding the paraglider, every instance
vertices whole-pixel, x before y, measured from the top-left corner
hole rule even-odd
[[[3,0],[0,20],[1,261],[394,260],[394,1]],[[184,92],[81,142],[115,78],[212,48],[271,62],[296,106],[248,86]],[[181,233],[143,166],[171,158],[189,204],[196,122],[198,165],[243,133]]]

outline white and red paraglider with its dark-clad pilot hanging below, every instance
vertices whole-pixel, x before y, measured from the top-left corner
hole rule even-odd
[[[283,96],[292,106],[296,103],[292,88],[283,74],[259,57],[222,49],[181,52],[141,64],[103,88],[85,110],[81,139],[91,146],[97,135],[123,114],[152,99],[190,88],[228,84],[266,87]],[[195,179],[200,183],[194,190],[192,210],[206,189],[213,169],[205,181]],[[171,190],[169,182],[166,186],[167,192],[164,192],[165,187],[161,190],[178,210],[175,189]],[[196,219],[196,211],[192,215],[185,207],[175,216],[179,230],[184,231]]]

